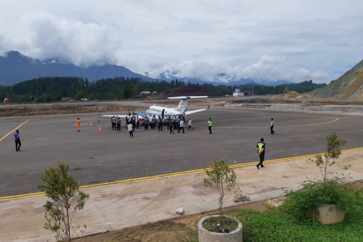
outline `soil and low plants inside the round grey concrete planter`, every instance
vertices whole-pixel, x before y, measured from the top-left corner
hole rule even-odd
[[[207,218],[203,221],[203,228],[215,233],[229,233],[238,228],[238,223],[229,217],[224,217],[223,221],[218,217]]]

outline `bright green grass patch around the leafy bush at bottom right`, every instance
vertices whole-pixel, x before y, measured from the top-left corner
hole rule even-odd
[[[238,210],[236,218],[243,225],[243,241],[361,242],[363,241],[363,192],[362,189],[347,192],[351,195],[351,201],[346,206],[345,220],[331,225],[299,220],[276,209],[268,208],[266,212]]]

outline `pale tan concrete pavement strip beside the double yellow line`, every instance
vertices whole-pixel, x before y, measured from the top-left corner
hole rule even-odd
[[[351,164],[346,181],[363,179],[363,151],[345,152],[340,164]],[[319,176],[318,168],[306,159],[281,163],[266,162],[257,170],[254,164],[235,169],[238,183],[251,201],[260,201],[297,189],[306,177]],[[203,185],[204,173],[155,178],[141,182],[86,189],[90,199],[85,209],[74,217],[73,226],[87,224],[85,234],[117,230],[147,222],[166,220],[180,215],[174,209],[183,207],[184,214],[195,214],[217,208],[216,194]],[[2,241],[51,241],[43,229],[45,196],[0,202],[0,238]],[[233,206],[232,197],[226,206]],[[73,236],[77,236],[76,229]]]

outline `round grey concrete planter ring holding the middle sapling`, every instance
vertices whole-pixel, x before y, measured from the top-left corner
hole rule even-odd
[[[207,218],[218,217],[219,215],[211,215],[202,218],[198,222],[198,239],[199,242],[242,242],[242,223],[236,218],[224,216],[230,218],[238,223],[238,228],[232,230],[229,233],[215,233],[203,228],[203,222]]]

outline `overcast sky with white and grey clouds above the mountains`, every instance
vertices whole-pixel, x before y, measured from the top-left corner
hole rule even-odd
[[[1,0],[9,50],[154,78],[330,82],[363,58],[363,1]]]

